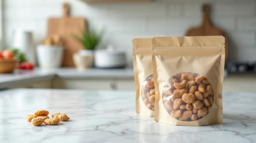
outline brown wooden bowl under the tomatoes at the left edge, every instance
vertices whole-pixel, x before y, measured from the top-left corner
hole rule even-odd
[[[11,73],[17,67],[19,60],[16,59],[0,59],[0,73]]]

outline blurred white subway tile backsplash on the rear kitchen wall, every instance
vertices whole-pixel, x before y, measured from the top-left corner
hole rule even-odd
[[[131,64],[131,40],[135,37],[184,36],[202,21],[201,7],[212,5],[212,23],[227,32],[230,39],[230,61],[253,61],[256,54],[255,0],[154,0],[151,3],[98,3],[82,0],[4,0],[4,36],[12,44],[16,28],[33,31],[35,44],[47,33],[49,17],[63,15],[64,2],[71,5],[70,15],[85,17],[90,26],[105,29],[100,44],[127,51]]]

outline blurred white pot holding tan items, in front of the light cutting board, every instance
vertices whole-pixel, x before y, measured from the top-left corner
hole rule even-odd
[[[37,60],[39,67],[45,69],[59,68],[62,64],[63,52],[64,49],[60,46],[38,45]]]

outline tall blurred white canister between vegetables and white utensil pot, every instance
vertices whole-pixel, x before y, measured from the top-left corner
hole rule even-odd
[[[32,32],[24,29],[15,29],[13,32],[13,43],[12,47],[19,49],[21,52],[25,53],[27,59],[31,63],[36,63],[35,61],[35,48],[32,38]]]

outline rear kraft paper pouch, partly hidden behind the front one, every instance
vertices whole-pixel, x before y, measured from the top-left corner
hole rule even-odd
[[[151,59],[151,38],[132,40],[132,60],[136,86],[136,113],[154,116],[155,87]]]

